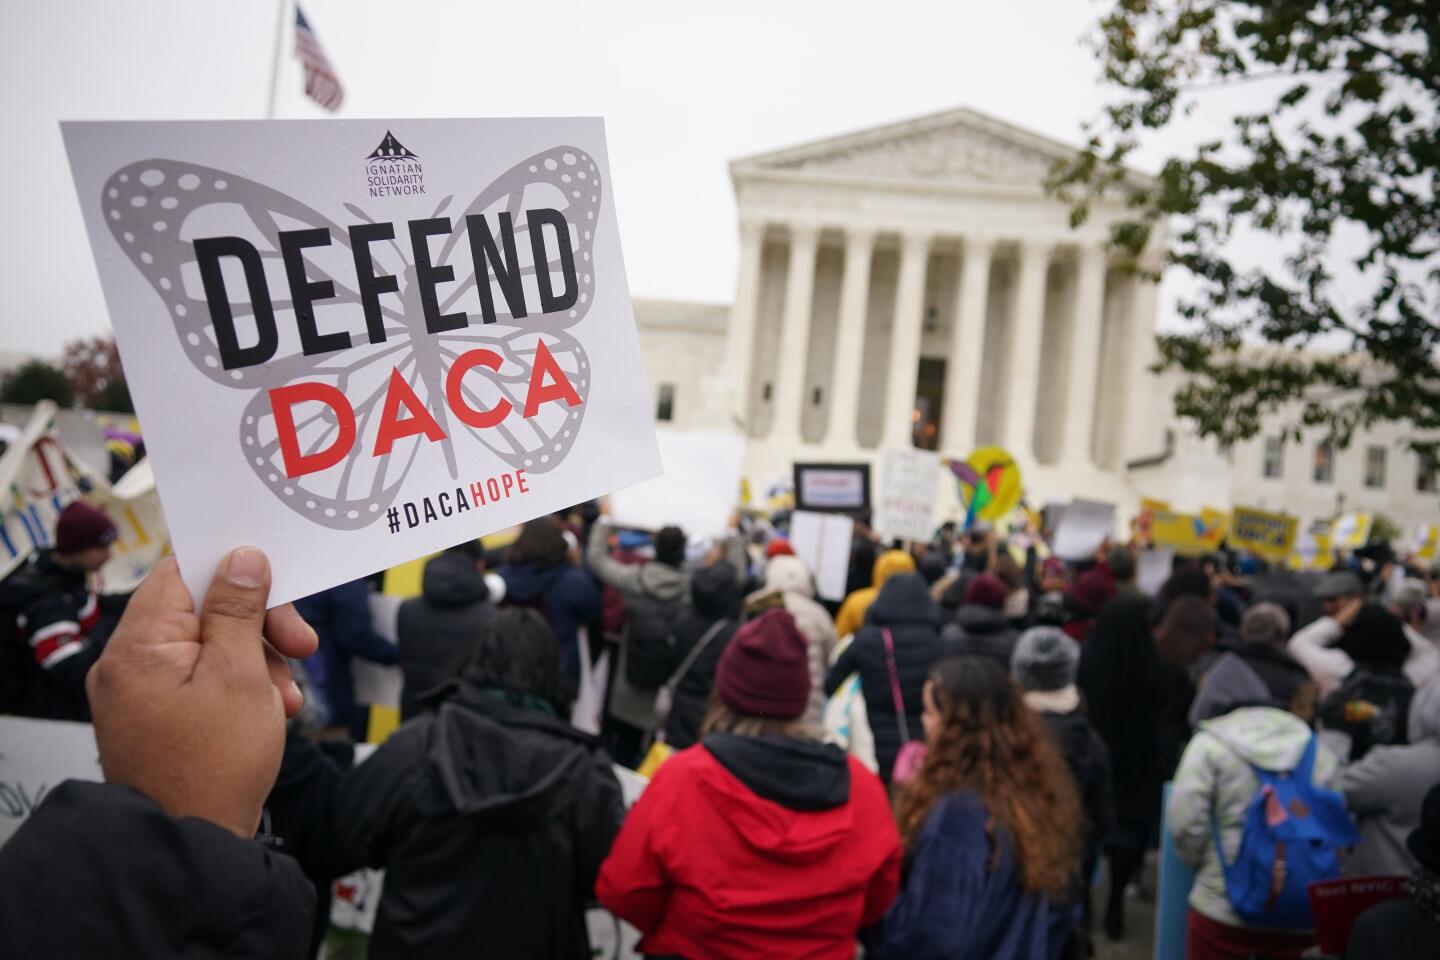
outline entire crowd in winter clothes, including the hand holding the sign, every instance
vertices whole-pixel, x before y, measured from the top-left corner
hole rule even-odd
[[[200,610],[166,561],[102,626],[114,525],[69,507],[0,584],[0,708],[94,720],[107,783],[0,849],[0,943],[314,956],[333,879],[377,866],[380,959],[588,957],[598,902],[649,957],[1056,960],[1126,936],[1164,829],[1195,960],[1300,957],[1305,884],[1346,874],[1407,878],[1348,956],[1433,956],[1440,570],[1217,553],[1151,594],[1138,543],[860,517],[829,603],[786,521],[541,517],[431,558],[392,643],[366,581],[266,613],[252,548]],[[360,763],[354,658],[403,674]],[[652,773],[629,810],[612,764]]]

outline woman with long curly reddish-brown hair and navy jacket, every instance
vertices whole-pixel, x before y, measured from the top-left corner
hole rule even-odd
[[[1083,815],[1009,675],[946,659],[924,685],[929,754],[896,803],[904,887],[867,956],[1054,960],[1080,918]]]

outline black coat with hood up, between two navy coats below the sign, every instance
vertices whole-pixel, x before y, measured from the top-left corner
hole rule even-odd
[[[425,564],[420,596],[400,604],[396,639],[400,648],[400,721],[420,711],[420,697],[459,676],[491,617],[490,589],[475,561],[446,551]]]

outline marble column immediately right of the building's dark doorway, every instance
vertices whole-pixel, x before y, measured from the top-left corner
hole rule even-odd
[[[985,358],[985,314],[989,305],[991,252],[986,236],[966,236],[962,248],[960,286],[955,296],[955,330],[950,363],[945,371],[945,415],[940,449],[966,456],[975,449],[981,409],[981,361]]]

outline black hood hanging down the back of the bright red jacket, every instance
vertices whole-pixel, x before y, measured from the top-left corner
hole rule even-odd
[[[737,734],[710,734],[703,743],[736,780],[783,807],[831,810],[850,802],[850,764],[840,747]]]

